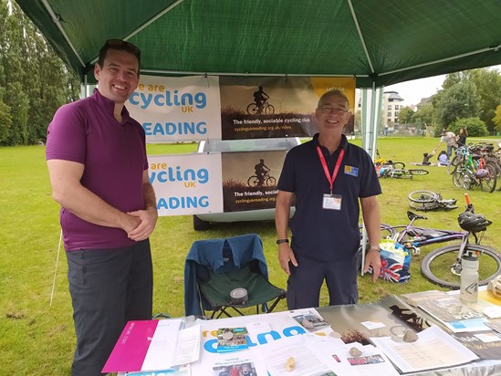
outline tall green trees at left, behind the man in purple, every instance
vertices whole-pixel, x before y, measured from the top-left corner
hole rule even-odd
[[[0,145],[45,141],[56,110],[79,94],[77,75],[16,2],[0,0]]]

